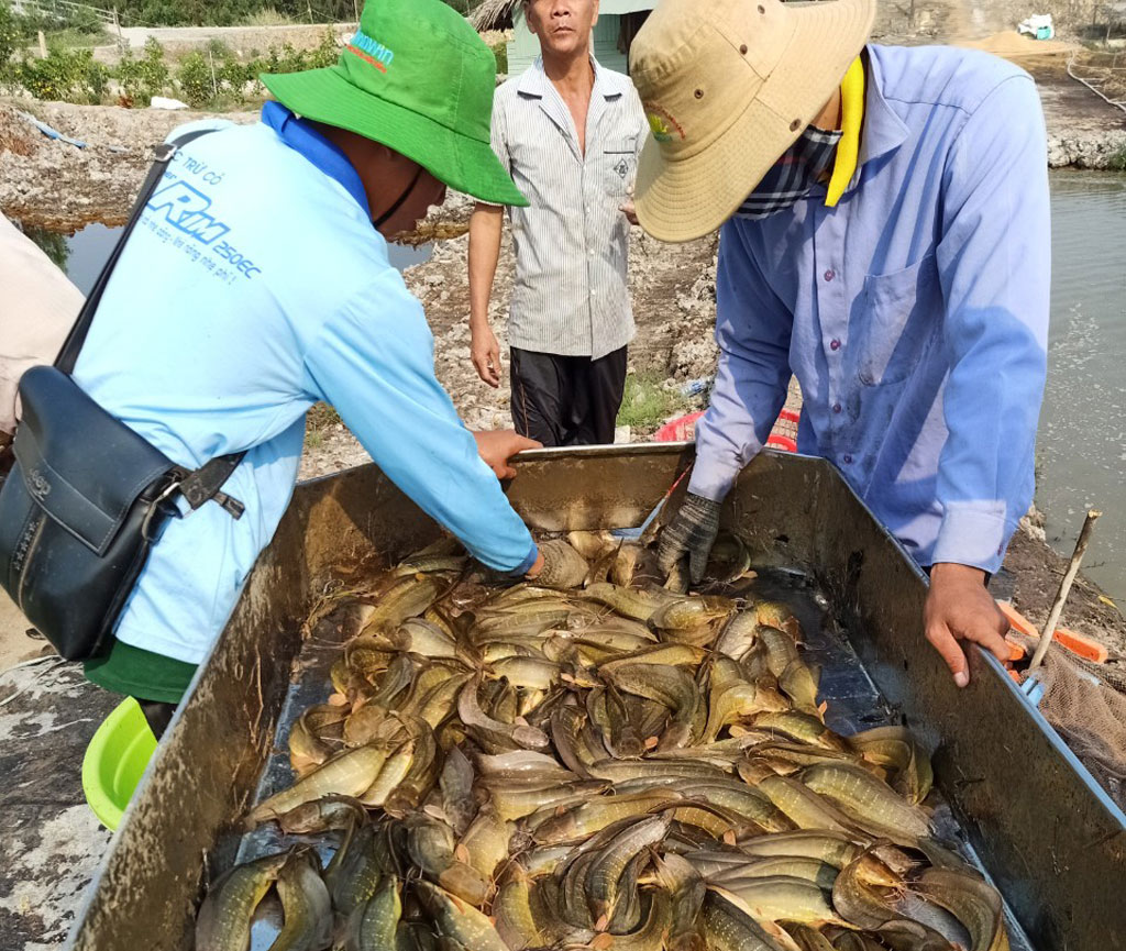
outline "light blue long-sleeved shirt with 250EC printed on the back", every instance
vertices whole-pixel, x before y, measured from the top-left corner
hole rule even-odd
[[[297,478],[323,400],[387,476],[468,550],[527,571],[535,546],[434,373],[422,306],[387,261],[356,170],[270,104],[169,168],[114,271],[75,379],[173,463],[249,450],[215,502],[173,519],[117,637],[199,663]]]

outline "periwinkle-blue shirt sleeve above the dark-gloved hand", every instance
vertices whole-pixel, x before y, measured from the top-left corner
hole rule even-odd
[[[738,221],[720,237],[715,340],[720,367],[696,428],[689,491],[723,499],[770,436],[789,384],[794,317],[768,286]]]

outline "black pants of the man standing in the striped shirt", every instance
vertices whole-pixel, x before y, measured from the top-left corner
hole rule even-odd
[[[626,348],[597,360],[511,348],[512,421],[544,446],[614,442],[626,385]]]

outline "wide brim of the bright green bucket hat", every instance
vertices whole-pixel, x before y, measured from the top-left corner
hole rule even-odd
[[[528,204],[488,142],[364,92],[332,66],[260,79],[287,109],[382,142],[457,191],[492,205]]]

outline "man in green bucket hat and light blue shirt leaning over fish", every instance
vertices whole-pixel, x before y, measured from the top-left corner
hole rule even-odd
[[[536,446],[471,432],[434,373],[422,307],[388,263],[446,188],[526,204],[490,147],[495,61],[439,0],[370,0],[337,65],[263,75],[261,122],[205,122],[148,204],[75,379],[175,463],[245,450],[153,551],[87,675],[158,732],[234,608],[297,477],[305,412],[333,405],[381,468],[490,567],[553,565],[497,476]],[[494,475],[495,474],[495,475]]]

